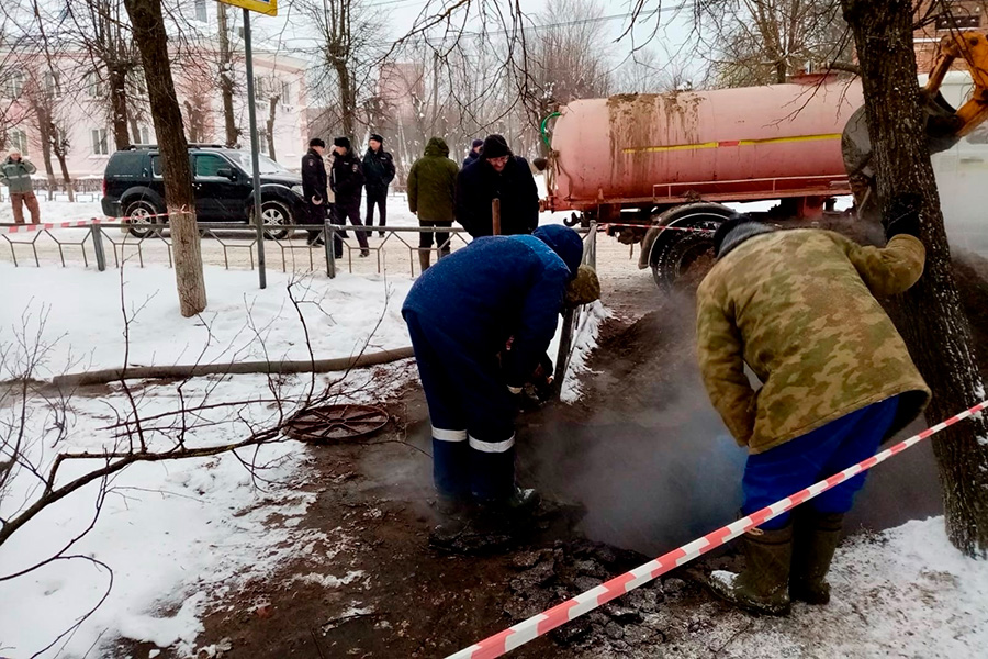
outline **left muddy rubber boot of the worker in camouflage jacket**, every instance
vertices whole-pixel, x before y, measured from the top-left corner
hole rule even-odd
[[[753,613],[789,614],[789,566],[793,560],[791,524],[777,530],[755,528],[744,543],[744,570],[740,574],[717,570],[710,589],[719,597]]]

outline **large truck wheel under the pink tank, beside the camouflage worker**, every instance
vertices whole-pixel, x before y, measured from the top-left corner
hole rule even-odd
[[[709,202],[687,203],[662,213],[656,224],[676,228],[662,231],[652,243],[649,265],[655,284],[666,290],[692,268],[696,268],[697,275],[700,270],[706,273],[704,261],[712,264],[714,260],[712,232],[733,214],[731,209]]]

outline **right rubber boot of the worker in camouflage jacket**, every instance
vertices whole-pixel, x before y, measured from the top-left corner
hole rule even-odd
[[[793,522],[793,563],[789,599],[807,604],[830,602],[827,572],[844,528],[842,513],[802,511]]]

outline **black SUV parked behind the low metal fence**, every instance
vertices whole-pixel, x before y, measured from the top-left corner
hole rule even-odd
[[[190,145],[195,215],[202,222],[249,222],[254,210],[250,153],[220,145]],[[274,227],[301,222],[304,215],[302,177],[260,156],[261,217]],[[132,146],[110,156],[103,175],[103,213],[126,217],[131,233],[153,233],[167,219],[161,156],[154,145]],[[281,239],[288,230],[268,230]]]

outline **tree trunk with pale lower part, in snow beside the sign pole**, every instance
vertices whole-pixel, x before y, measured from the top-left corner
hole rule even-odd
[[[189,145],[171,78],[161,0],[124,0],[124,3],[131,16],[134,42],[141,51],[151,118],[158,134],[158,150],[166,172],[165,201],[175,250],[175,278],[181,312],[188,317],[205,309],[206,293],[192,196]]]

